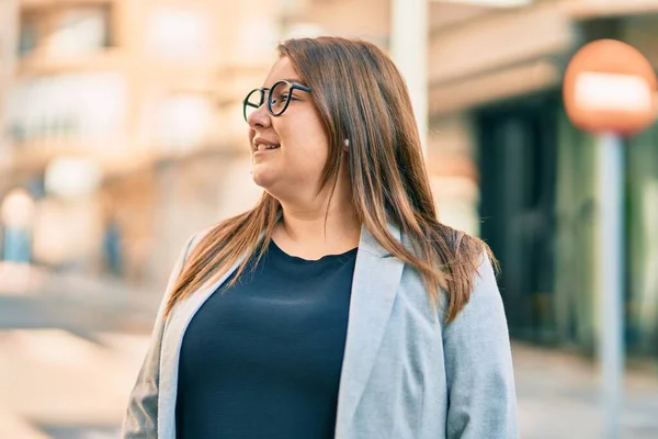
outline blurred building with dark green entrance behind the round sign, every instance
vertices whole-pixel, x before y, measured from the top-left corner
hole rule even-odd
[[[467,156],[477,167],[479,234],[502,264],[512,335],[593,349],[598,149],[567,121],[560,81],[570,56],[603,37],[634,45],[658,67],[658,2],[535,1],[507,10],[455,3],[432,3],[430,157]],[[624,255],[626,340],[634,351],[654,353],[656,134],[626,149]],[[439,185],[450,188],[444,181]]]

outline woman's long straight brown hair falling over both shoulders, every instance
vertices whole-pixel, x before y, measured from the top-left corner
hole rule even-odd
[[[288,40],[280,44],[279,54],[310,87],[325,123],[330,151],[322,184],[336,182],[343,139],[349,138],[359,219],[382,247],[421,273],[434,305],[442,292],[447,294],[445,318],[452,322],[468,302],[483,255],[492,257],[481,240],[439,223],[411,101],[398,69],[377,46],[359,40]],[[245,258],[230,281],[235,283],[249,259],[260,260],[264,254],[280,210],[265,192],[251,211],[212,228],[189,257],[166,313]],[[390,234],[387,223],[400,228],[412,249]]]

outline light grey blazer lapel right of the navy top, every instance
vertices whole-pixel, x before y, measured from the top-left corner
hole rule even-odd
[[[400,232],[389,230],[400,240]],[[356,254],[343,367],[338,395],[336,437],[347,437],[384,337],[404,262],[390,256],[365,229]]]

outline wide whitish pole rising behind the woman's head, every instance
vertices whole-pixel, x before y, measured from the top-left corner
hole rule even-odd
[[[427,155],[428,132],[428,0],[392,0],[390,55],[407,81]]]

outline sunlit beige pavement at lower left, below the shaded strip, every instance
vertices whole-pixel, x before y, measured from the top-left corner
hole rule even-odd
[[[147,335],[0,331],[0,438],[117,438],[147,344]]]

